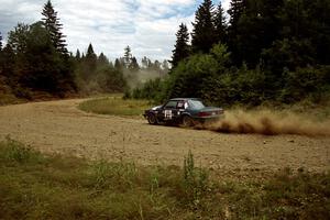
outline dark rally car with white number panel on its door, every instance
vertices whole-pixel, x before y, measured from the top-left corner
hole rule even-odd
[[[197,98],[175,98],[145,110],[144,118],[150,124],[176,123],[184,127],[193,127],[197,123],[215,121],[222,118],[223,109],[217,107],[206,107]]]

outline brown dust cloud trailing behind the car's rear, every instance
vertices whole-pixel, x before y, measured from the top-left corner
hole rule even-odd
[[[220,133],[240,134],[298,134],[308,136],[329,136],[330,120],[317,121],[292,112],[271,110],[226,112],[224,119],[216,123],[197,125],[196,129]]]

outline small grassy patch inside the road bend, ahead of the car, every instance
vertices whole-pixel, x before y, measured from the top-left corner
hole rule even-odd
[[[100,114],[141,117],[144,110],[151,106],[150,101],[146,100],[124,100],[120,96],[110,96],[108,98],[84,101],[79,105],[79,109]]]

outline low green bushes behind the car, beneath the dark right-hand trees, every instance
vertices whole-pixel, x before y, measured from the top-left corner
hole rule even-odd
[[[156,97],[164,101],[175,97],[196,97],[216,106],[260,106],[265,101],[293,103],[304,99],[319,103],[329,99],[329,66],[289,70],[297,65],[286,68],[285,63],[280,69],[270,69],[261,63],[255,68],[248,68],[245,64],[237,68],[230,66],[229,56],[227,47],[221,44],[216,45],[210,54],[195,54],[172,69],[169,77],[158,87],[157,96],[148,96],[150,85],[146,85],[135,89],[133,98]]]

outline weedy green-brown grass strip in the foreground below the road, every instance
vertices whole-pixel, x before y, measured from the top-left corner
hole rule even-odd
[[[330,175],[234,182],[194,165],[139,166],[0,143],[0,219],[328,219]]]

